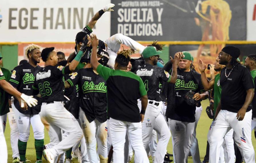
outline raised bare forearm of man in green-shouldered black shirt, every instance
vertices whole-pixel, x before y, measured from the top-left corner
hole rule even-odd
[[[97,69],[98,65],[100,65],[97,58],[98,40],[95,34],[92,34],[92,36],[88,38],[92,44],[91,65],[92,65],[92,68]]]

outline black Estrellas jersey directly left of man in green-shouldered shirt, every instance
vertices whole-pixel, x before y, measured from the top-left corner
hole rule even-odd
[[[89,122],[97,119],[101,123],[107,120],[106,81],[94,73],[92,68],[80,69],[67,80],[71,86],[78,84],[80,92],[79,106],[84,110]]]

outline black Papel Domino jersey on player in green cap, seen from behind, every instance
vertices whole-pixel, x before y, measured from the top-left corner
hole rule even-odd
[[[154,67],[150,64],[145,64],[136,71],[136,74],[142,79],[148,94],[148,100],[159,101],[160,97],[160,82],[169,82],[171,76],[164,69]]]

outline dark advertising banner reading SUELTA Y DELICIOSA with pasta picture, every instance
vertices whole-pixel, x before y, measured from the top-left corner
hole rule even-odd
[[[111,0],[111,35],[134,40],[246,40],[246,1]]]

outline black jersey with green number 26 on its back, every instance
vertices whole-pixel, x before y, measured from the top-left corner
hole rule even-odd
[[[39,91],[42,102],[50,103],[64,100],[63,75],[69,73],[71,73],[69,66],[46,66],[39,70],[35,76],[33,89]]]

